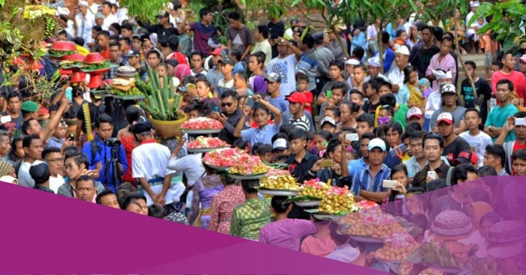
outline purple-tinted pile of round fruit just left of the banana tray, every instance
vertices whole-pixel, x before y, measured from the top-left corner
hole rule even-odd
[[[383,247],[373,253],[384,261],[403,261],[417,248],[418,243],[407,232],[392,233]]]

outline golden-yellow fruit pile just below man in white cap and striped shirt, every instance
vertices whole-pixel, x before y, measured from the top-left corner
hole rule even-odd
[[[321,200],[319,211],[337,214],[351,211],[356,206],[355,198],[347,186],[332,187],[327,191],[325,198]]]

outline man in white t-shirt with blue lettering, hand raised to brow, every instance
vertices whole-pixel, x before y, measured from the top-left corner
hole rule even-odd
[[[257,36],[256,36],[257,37]],[[284,38],[277,39],[278,57],[270,60],[268,64],[268,73],[277,73],[281,77],[279,91],[282,95],[288,96],[296,90],[296,56],[289,54],[288,41]],[[292,46],[294,47],[294,46]]]

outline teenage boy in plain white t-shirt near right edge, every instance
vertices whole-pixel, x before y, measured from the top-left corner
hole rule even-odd
[[[468,125],[468,130],[461,133],[459,137],[466,140],[471,147],[471,150],[477,153],[477,157],[479,158],[479,163],[477,165],[480,167],[484,160],[485,148],[488,145],[493,145],[493,140],[491,140],[491,137],[488,134],[480,130],[482,119],[480,118],[480,113],[477,109],[467,109],[466,114],[464,114],[464,120]]]

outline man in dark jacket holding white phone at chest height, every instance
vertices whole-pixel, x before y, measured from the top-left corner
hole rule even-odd
[[[429,171],[435,171],[437,179],[446,180],[450,167],[441,158],[444,148],[442,136],[437,134],[425,136],[422,140],[422,147],[428,164],[414,175],[413,186],[426,188],[428,182],[433,180],[428,176]]]

